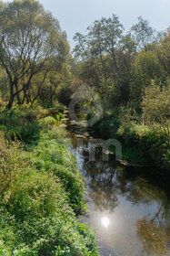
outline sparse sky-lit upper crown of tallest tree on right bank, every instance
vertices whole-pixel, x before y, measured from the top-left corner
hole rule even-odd
[[[116,62],[115,51],[118,43],[122,38],[124,27],[120,23],[118,16],[113,15],[109,18],[101,18],[87,27],[88,34],[75,34],[75,41],[77,42],[74,53],[76,57],[82,59],[99,57],[101,64],[105,71],[104,55],[109,55],[113,62],[113,67],[118,73],[118,65]]]

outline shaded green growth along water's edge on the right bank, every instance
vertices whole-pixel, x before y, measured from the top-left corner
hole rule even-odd
[[[128,109],[105,112],[93,130],[99,138],[117,139],[122,144],[123,159],[130,163],[167,170],[170,167],[170,148],[163,127],[141,124],[139,116]]]

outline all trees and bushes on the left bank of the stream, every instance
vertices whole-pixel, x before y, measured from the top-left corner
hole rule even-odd
[[[2,256],[98,255],[93,231],[76,219],[84,179],[58,127],[69,61],[65,32],[43,6],[0,3]]]

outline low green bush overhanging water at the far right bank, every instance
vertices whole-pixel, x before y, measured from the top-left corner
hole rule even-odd
[[[136,153],[138,152],[140,157],[137,157],[137,159],[142,157],[145,164],[150,159],[151,163],[154,161],[155,165],[159,167],[169,168],[169,144],[167,143],[163,128],[155,127],[154,129],[144,124],[132,123],[121,126],[118,130],[118,135],[120,138],[123,138],[126,145],[136,147],[136,152],[133,156],[137,155]],[[142,152],[144,157],[142,156]]]

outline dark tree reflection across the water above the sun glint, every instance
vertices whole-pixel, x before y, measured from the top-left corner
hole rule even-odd
[[[163,203],[165,211],[169,202],[163,190],[150,185],[144,178],[128,176],[125,168],[117,170],[114,164],[96,160],[83,166],[84,176],[90,188],[95,207],[113,211],[118,206],[118,197],[123,196],[133,204],[147,204],[151,201]],[[165,214],[165,213],[164,213]]]

